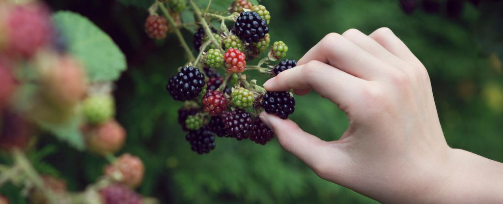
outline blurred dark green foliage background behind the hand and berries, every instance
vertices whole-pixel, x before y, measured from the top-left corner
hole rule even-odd
[[[162,41],[146,36],[143,26],[149,1],[46,2],[53,11],[69,10],[88,17],[126,54],[128,70],[117,83],[115,95],[118,120],[128,132],[123,151],[139,156],[146,166],[140,193],[158,197],[162,203],[374,202],[318,178],[283,151],[277,140],[260,146],[217,138],[210,154],[192,152],[177,121],[182,103],[164,90],[167,79],[185,65],[184,52],[173,34]],[[287,43],[289,59],[299,59],[330,32],[357,28],[370,34],[380,27],[391,28],[429,71],[449,145],[503,162],[501,1],[482,1],[478,6],[466,1],[459,17],[447,15],[444,9],[426,13],[421,4],[406,15],[394,0],[263,0],[261,4],[271,12],[271,41]],[[191,31],[182,33],[192,42]],[[259,84],[267,79],[248,73]],[[346,115],[328,100],[311,93],[296,101],[291,119],[307,132],[337,140],[345,131]],[[36,162],[36,168],[64,178],[70,190],[82,190],[96,181],[107,163],[53,138],[41,138],[38,145],[42,150],[36,155],[49,156]],[[8,195],[18,192],[2,190]]]

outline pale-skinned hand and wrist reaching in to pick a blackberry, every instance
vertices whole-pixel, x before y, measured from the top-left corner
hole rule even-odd
[[[330,33],[264,87],[313,90],[346,112],[337,141],[260,116],[325,180],[384,203],[503,203],[503,164],[447,145],[425,66],[388,28]]]

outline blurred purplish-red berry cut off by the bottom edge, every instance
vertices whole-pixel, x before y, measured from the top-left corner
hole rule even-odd
[[[112,184],[100,189],[103,204],[141,204],[142,198],[130,188]]]

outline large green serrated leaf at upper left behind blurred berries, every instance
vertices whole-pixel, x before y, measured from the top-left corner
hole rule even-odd
[[[52,20],[67,40],[68,51],[85,65],[91,81],[117,80],[126,70],[122,51],[89,19],[63,11],[55,13]]]

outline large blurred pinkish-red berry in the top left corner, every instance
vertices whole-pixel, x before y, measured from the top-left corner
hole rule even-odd
[[[8,54],[29,58],[50,41],[51,20],[47,8],[42,5],[15,6],[6,20]]]

